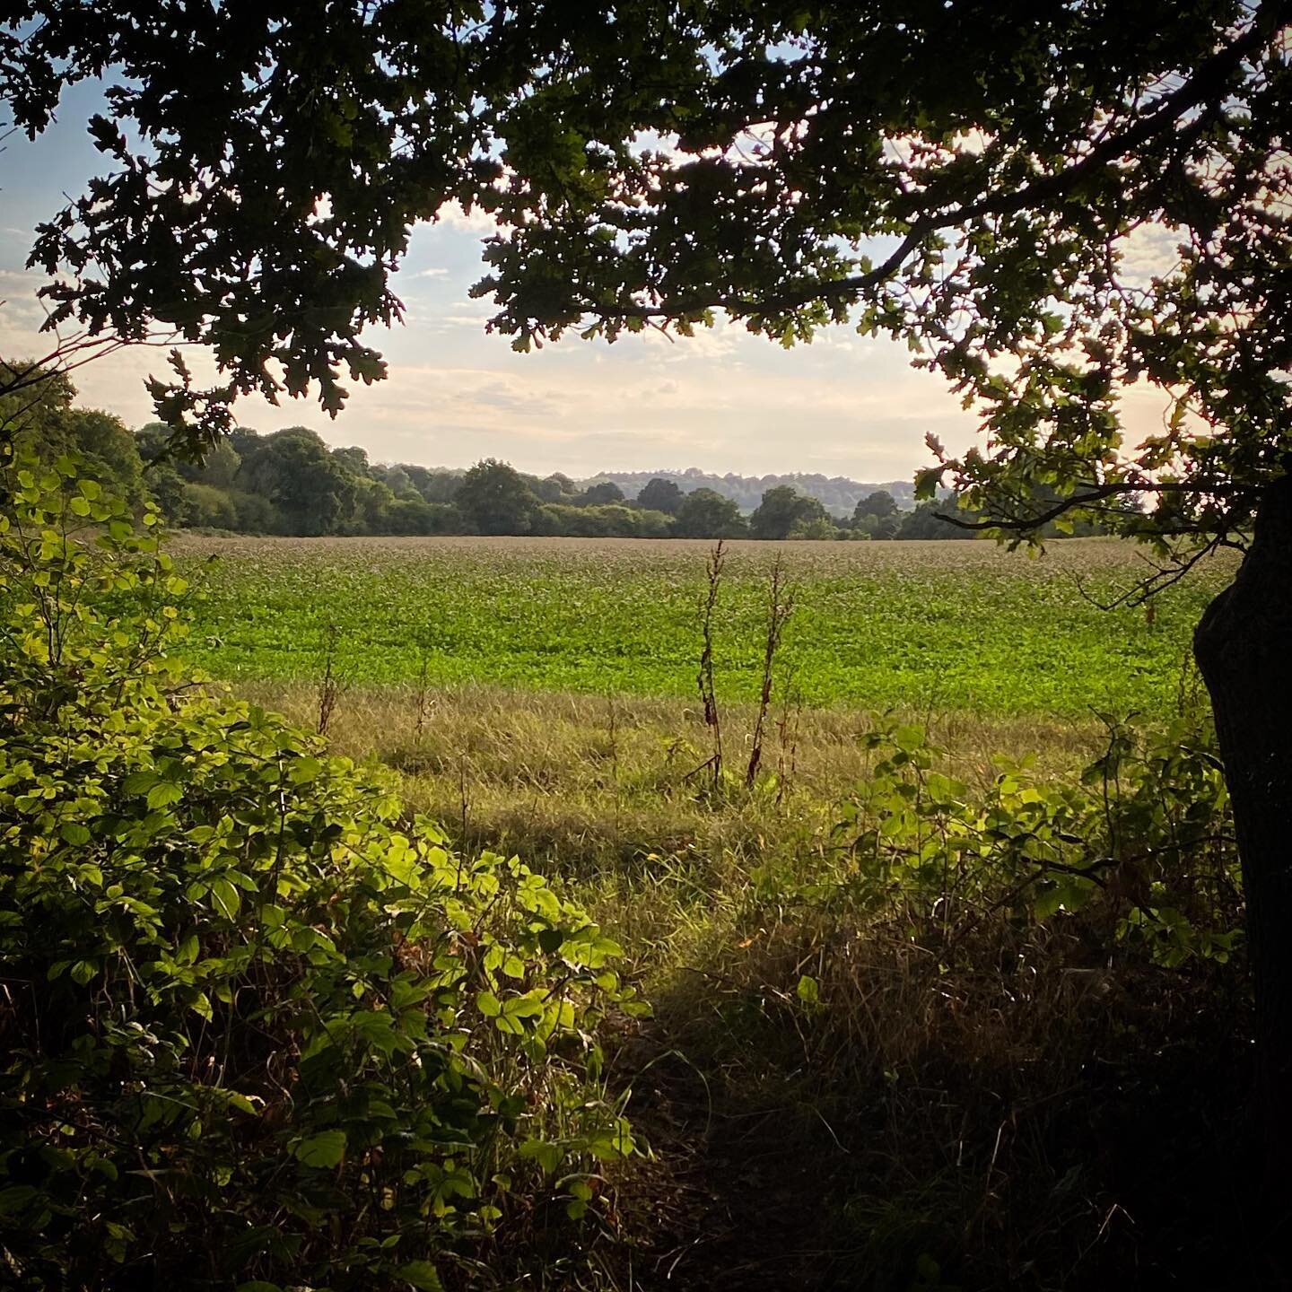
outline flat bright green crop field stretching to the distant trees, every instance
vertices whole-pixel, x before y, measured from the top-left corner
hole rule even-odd
[[[309,680],[335,629],[358,683],[425,669],[432,685],[694,694],[704,543],[185,536],[174,550],[203,590],[190,652],[222,677]],[[755,698],[778,552],[797,599],[782,662],[808,704],[994,714],[1151,711],[1230,572],[1199,571],[1150,618],[1102,609],[1147,568],[1111,540],[1039,559],[986,541],[736,543],[716,641],[729,699]]]

